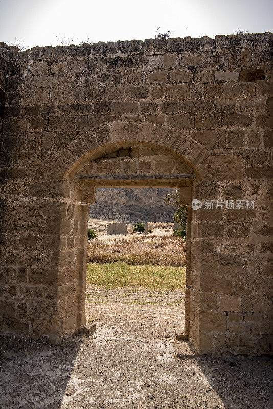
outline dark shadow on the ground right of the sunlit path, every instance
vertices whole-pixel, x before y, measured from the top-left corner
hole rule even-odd
[[[272,357],[203,356],[195,362],[225,409],[273,408]]]

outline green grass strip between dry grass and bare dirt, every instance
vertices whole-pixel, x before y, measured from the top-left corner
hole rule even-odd
[[[131,265],[124,262],[88,263],[87,284],[99,287],[143,287],[151,290],[185,288],[185,267]]]

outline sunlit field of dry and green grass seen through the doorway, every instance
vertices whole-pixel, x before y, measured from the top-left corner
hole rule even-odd
[[[90,225],[90,223],[89,223]],[[149,234],[105,234],[107,223],[97,222],[98,237],[88,241],[87,283],[153,290],[185,288],[186,243],[175,237],[172,223],[149,223]],[[100,229],[100,230],[99,230]]]

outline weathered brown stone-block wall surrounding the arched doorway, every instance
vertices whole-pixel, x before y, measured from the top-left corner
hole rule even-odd
[[[88,206],[64,175],[129,139],[185,157],[203,203],[255,200],[253,210],[193,211],[186,325],[199,352],[270,351],[272,41],[2,45],[2,332],[54,337],[84,325]]]

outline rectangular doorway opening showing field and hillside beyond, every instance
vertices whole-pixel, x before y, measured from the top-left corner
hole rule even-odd
[[[184,333],[185,322],[186,232],[173,219],[181,213],[179,189],[96,188],[95,197],[88,220],[87,325],[95,323],[98,344],[116,353],[116,344],[128,353],[137,339],[168,362],[175,331]]]

